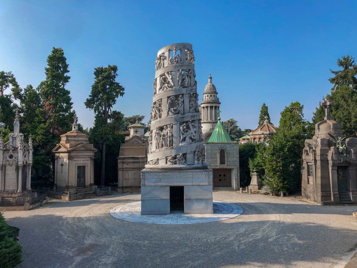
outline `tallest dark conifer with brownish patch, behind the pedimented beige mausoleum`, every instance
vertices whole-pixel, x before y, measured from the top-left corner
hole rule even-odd
[[[32,167],[42,174],[50,186],[53,179],[54,155],[52,149],[60,141],[60,135],[71,130],[73,112],[70,91],[65,88],[70,80],[68,64],[61,48],[53,48],[47,57],[45,68],[46,80],[42,81],[36,91],[41,96],[41,108],[36,110],[34,133],[34,157]],[[37,100],[34,91],[29,89],[31,98]],[[25,105],[25,104],[24,104]],[[27,105],[27,104],[26,104]],[[39,175],[35,174],[35,175]]]

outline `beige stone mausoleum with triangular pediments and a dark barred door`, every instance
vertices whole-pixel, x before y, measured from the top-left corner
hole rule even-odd
[[[89,136],[78,130],[75,115],[72,130],[61,135],[55,154],[55,190],[71,193],[94,186],[94,153]]]

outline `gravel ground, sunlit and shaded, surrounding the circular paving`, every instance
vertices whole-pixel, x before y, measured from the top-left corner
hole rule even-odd
[[[357,247],[357,206],[214,192],[243,214],[220,222],[125,222],[110,209],[140,199],[116,194],[4,212],[21,228],[19,267],[334,267]]]

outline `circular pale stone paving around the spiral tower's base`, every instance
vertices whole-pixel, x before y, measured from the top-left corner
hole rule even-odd
[[[243,213],[243,209],[237,205],[213,201],[213,214],[184,214],[171,213],[166,215],[140,215],[141,202],[132,202],[120,205],[110,210],[110,214],[117,219],[128,222],[150,224],[193,224],[205,222],[217,222],[234,218]]]

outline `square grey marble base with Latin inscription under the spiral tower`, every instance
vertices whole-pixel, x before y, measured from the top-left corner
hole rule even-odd
[[[141,170],[141,215],[170,214],[170,186],[183,186],[185,214],[211,214],[212,170]]]

